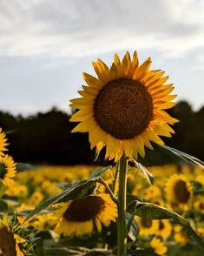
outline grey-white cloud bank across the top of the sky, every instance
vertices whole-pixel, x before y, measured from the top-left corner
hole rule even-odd
[[[1,54],[82,57],[149,48],[181,57],[204,45],[202,7],[200,0],[4,0]]]

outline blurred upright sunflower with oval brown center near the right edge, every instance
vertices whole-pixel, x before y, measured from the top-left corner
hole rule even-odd
[[[166,183],[167,199],[173,208],[188,210],[193,196],[193,189],[186,176],[174,174]]]

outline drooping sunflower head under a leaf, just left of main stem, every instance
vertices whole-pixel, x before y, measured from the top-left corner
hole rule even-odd
[[[55,232],[65,236],[90,233],[94,225],[101,232],[102,225],[109,226],[117,217],[116,205],[106,193],[62,203],[61,206],[56,210],[59,221]]]

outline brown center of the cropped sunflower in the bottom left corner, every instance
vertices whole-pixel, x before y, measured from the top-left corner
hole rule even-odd
[[[4,256],[16,256],[16,241],[6,226],[0,229],[0,249]]]

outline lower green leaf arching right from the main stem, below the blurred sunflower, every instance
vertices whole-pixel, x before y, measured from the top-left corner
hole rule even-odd
[[[188,221],[183,219],[178,213],[172,212],[159,205],[137,202],[135,215],[138,215],[144,219],[174,219],[174,221],[181,225],[188,233],[188,236],[194,238],[194,240],[204,250],[203,239],[196,232],[194,232],[194,229],[190,226]]]

